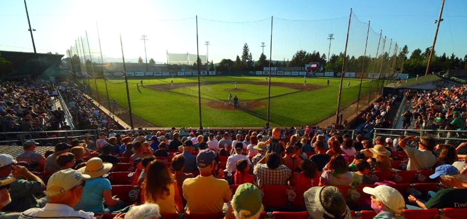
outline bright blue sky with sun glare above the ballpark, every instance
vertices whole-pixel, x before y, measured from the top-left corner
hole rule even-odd
[[[265,42],[264,53],[269,58],[271,15],[273,60],[291,58],[298,49],[327,55],[326,38],[330,33],[335,38],[331,54],[339,53],[345,46],[351,7],[355,16],[350,29],[350,55],[363,55],[368,20],[372,28],[368,55],[375,56],[380,29],[383,37],[387,36],[384,51],[389,50],[390,39],[394,44],[407,44],[410,51],[424,50],[432,44],[436,28],[433,21],[438,18],[441,6],[441,0],[28,0],[27,3],[31,25],[37,29],[34,39],[38,52],[64,54],[79,36],[85,39],[87,31],[90,50],[97,59],[98,23],[104,57],[121,57],[121,33],[125,57],[144,58],[140,38],[145,34],[149,38],[148,59],[152,57],[157,62],[165,62],[166,52],[196,54],[196,15],[199,54],[206,54],[204,44],[209,41],[209,59],[214,62],[241,55],[245,42],[255,60],[262,52],[261,42]],[[438,54],[466,55],[466,8],[465,0],[446,0],[435,48]],[[0,50],[32,51],[25,14],[22,0],[0,0]]]

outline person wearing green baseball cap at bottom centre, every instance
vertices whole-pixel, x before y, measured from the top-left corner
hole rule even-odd
[[[254,184],[237,187],[224,219],[259,219],[264,210],[261,190]]]

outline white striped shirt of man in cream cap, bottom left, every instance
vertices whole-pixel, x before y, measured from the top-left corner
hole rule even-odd
[[[18,219],[95,219],[94,213],[75,211],[68,205],[47,203],[43,208],[31,208]]]

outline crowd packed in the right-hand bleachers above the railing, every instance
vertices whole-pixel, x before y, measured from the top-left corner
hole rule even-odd
[[[466,124],[467,85],[405,93],[411,110],[403,112],[403,128],[463,130]]]

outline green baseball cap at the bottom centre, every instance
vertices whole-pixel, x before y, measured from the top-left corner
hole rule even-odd
[[[241,184],[233,195],[232,203],[233,210],[236,212],[240,212],[241,210],[249,211],[250,215],[245,215],[249,218],[261,209],[261,190],[251,183]]]

